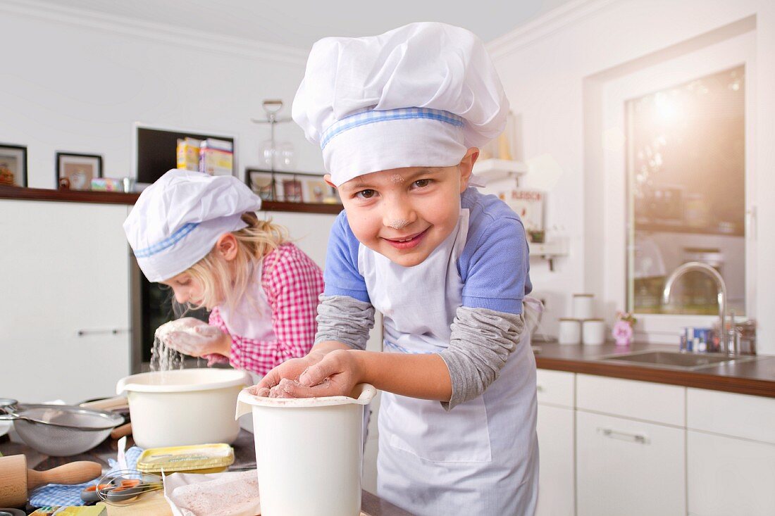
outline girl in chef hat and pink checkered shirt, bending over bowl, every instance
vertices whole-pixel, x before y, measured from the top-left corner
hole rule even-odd
[[[236,177],[173,169],[140,194],[124,230],[149,281],[211,310],[209,325],[162,326],[167,346],[263,375],[312,347],[323,280],[284,228],[257,217],[260,206]]]

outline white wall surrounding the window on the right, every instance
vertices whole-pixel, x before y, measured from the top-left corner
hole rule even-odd
[[[570,313],[570,294],[603,291],[603,225],[622,224],[600,214],[603,198],[591,163],[600,153],[601,133],[591,130],[590,113],[599,111],[589,95],[590,77],[605,84],[606,72],[704,33],[756,16],[756,133],[753,170],[757,176],[758,246],[755,270],[756,319],[760,352],[775,353],[775,270],[765,257],[775,253],[775,2],[769,0],[580,0],[557,9],[491,43],[512,110],[521,116],[524,159],[532,164],[524,184],[549,191],[547,225],[570,236],[570,256],[555,260],[555,272],[533,260],[536,295],[546,298],[545,331],[556,334],[556,318]],[[586,101],[585,101],[586,99]],[[769,286],[769,287],[767,287]],[[624,307],[619,307],[624,308]],[[602,310],[601,310],[602,311]],[[610,310],[608,310],[610,311]],[[606,317],[612,313],[606,311]]]

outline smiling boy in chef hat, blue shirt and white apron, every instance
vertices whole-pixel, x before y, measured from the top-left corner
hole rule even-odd
[[[267,373],[256,392],[384,390],[378,492],[412,514],[536,506],[528,244],[508,206],[470,187],[477,147],[507,112],[483,44],[442,23],[320,40],[294,100],[345,209],[312,353]],[[383,353],[364,350],[375,308]]]

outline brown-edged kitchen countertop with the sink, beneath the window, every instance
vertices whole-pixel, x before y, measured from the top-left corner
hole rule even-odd
[[[775,356],[759,356],[749,362],[707,366],[698,370],[670,370],[601,361],[603,356],[647,350],[675,352],[677,347],[642,343],[615,346],[607,342],[602,346],[583,346],[533,342],[539,369],[775,397]]]

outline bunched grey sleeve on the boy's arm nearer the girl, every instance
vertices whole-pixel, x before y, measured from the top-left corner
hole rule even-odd
[[[374,307],[349,296],[320,294],[319,300],[315,344],[336,340],[353,349],[366,349],[369,330],[374,328]]]

